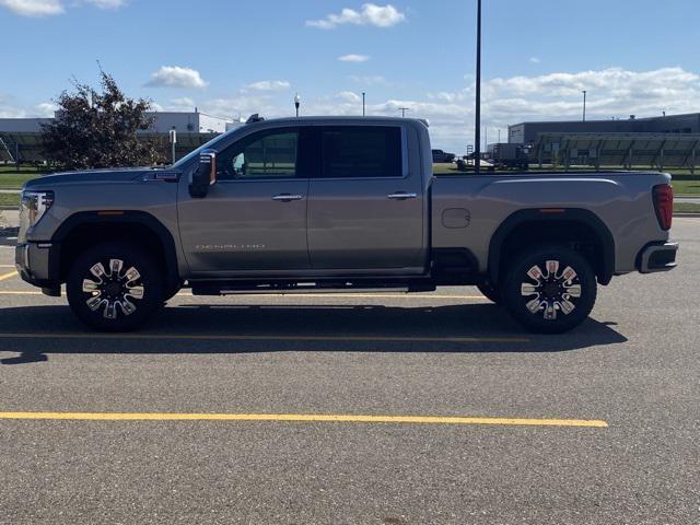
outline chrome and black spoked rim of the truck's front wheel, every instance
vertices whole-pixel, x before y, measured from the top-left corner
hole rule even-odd
[[[95,313],[102,312],[107,319],[116,319],[119,314],[132,315],[145,294],[139,270],[133,266],[124,268],[121,259],[109,259],[107,268],[96,262],[83,279],[82,291],[88,295],[85,304]]]

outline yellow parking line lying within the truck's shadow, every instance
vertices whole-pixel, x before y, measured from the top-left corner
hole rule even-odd
[[[116,339],[189,341],[378,341],[378,342],[529,342],[523,337],[395,337],[395,336],[256,336],[208,334],[19,334],[0,332],[0,339]]]

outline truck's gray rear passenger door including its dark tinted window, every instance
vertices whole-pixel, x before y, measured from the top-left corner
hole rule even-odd
[[[424,201],[402,126],[320,126],[308,188],[308,252],[319,270],[420,273]]]

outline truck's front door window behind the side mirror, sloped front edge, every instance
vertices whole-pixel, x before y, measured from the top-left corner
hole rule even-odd
[[[217,158],[223,180],[296,176],[298,130],[261,131],[226,148]]]

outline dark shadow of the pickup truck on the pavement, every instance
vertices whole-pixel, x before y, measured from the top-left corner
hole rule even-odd
[[[2,364],[65,353],[563,352],[627,341],[611,323],[595,319],[569,334],[528,334],[492,304],[185,304],[165,308],[141,331],[127,335],[90,332],[66,306],[1,312],[0,349],[19,354]],[[18,327],[34,331],[19,334]]]

